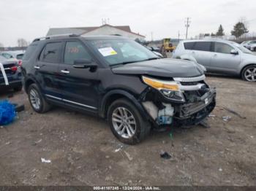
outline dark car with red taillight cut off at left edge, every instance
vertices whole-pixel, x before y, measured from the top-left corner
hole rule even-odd
[[[9,85],[5,84],[4,75],[0,70],[0,89],[14,89],[15,91],[22,90],[21,72],[18,62],[12,59],[4,58],[0,55],[0,63],[4,66],[4,72],[7,75]]]

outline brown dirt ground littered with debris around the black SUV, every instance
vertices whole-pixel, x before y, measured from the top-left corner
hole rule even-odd
[[[207,81],[217,87],[211,128],[152,132],[136,146],[116,141],[104,120],[61,108],[36,114],[26,94],[15,93],[10,100],[24,102],[26,111],[0,128],[0,184],[256,185],[256,83]],[[161,151],[172,157],[162,159]]]

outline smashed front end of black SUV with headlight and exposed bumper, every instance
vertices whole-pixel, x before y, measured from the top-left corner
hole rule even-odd
[[[143,76],[148,88],[140,103],[154,126],[196,125],[215,107],[216,90],[200,77],[154,79]]]

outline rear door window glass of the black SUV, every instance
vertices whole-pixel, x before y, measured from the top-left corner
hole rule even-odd
[[[58,63],[61,52],[61,42],[50,42],[46,44],[42,51],[42,61],[49,63]]]

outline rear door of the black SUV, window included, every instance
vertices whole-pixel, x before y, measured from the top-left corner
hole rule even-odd
[[[56,76],[58,75],[62,44],[62,42],[48,42],[45,44],[34,66],[34,69],[36,69],[35,77],[42,88],[42,92],[55,101],[61,100],[61,90]]]

